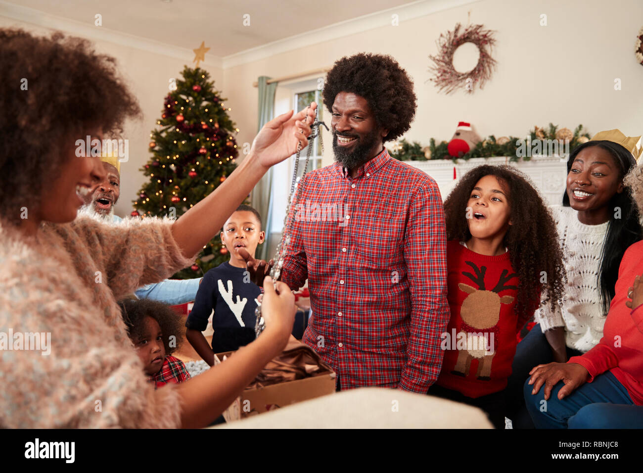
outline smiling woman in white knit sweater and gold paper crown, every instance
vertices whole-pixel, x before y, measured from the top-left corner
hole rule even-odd
[[[517,428],[533,428],[522,389],[529,371],[539,364],[564,363],[599,343],[620,260],[629,245],[643,238],[638,209],[623,183],[637,163],[605,136],[613,132],[601,132],[572,151],[563,205],[550,207],[566,257],[566,291],[555,309],[543,297],[535,315],[538,324],[516,349],[507,404]]]

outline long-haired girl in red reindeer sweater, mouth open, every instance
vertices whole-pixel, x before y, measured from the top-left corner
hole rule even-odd
[[[467,172],[444,210],[451,319],[428,394],[480,407],[503,429],[516,336],[543,290],[554,300],[563,292],[556,227],[538,192],[508,166]]]

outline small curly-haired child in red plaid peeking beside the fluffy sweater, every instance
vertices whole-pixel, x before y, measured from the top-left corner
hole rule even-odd
[[[143,372],[156,387],[190,379],[190,373],[174,353],[183,342],[179,315],[163,302],[123,299],[118,302],[127,335],[143,363]]]

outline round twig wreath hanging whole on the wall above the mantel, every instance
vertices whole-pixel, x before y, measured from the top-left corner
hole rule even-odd
[[[429,71],[434,74],[430,80],[440,92],[447,94],[459,88],[464,88],[467,93],[473,93],[475,86],[482,89],[484,83],[491,79],[491,73],[496,67],[496,60],[491,57],[491,50],[496,43],[493,30],[485,30],[482,24],[470,24],[460,33],[460,26],[457,23],[453,31],[440,34],[435,41],[439,53],[429,56],[433,61]],[[453,54],[466,42],[471,42],[478,48],[480,57],[475,68],[468,72],[458,72],[453,66]]]

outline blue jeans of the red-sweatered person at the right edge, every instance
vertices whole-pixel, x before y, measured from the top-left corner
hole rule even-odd
[[[545,401],[545,388],[540,388],[536,394],[531,394],[534,387],[525,381],[524,393],[527,411],[536,429],[586,429],[586,428],[626,428],[620,425],[620,420],[629,411],[643,413],[643,407],[633,405],[628,390],[609,371],[596,376],[591,383],[585,383],[562,400],[558,399],[558,391],[565,384],[559,382],[554,386],[549,399]],[[638,410],[635,409],[638,407]],[[624,409],[627,408],[627,409]],[[633,409],[634,408],[634,409]],[[598,417],[604,416],[604,417]],[[629,423],[643,422],[632,416]]]

